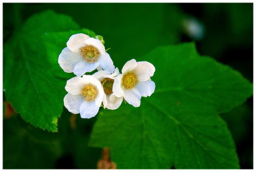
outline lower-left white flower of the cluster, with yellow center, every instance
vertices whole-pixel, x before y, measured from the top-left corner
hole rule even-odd
[[[101,106],[104,91],[98,79],[92,75],[73,77],[67,81],[64,106],[70,113],[80,113],[81,118],[92,118]]]

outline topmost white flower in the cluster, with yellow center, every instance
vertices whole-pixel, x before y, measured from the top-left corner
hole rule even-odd
[[[83,33],[70,36],[58,62],[65,72],[74,72],[77,76],[92,72],[96,68],[103,68],[111,73],[115,70],[113,61],[102,42]]]

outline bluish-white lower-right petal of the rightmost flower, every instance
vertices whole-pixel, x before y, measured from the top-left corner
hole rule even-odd
[[[153,81],[145,81],[145,82],[141,82],[139,81],[136,84],[135,87],[141,94],[142,97],[148,97],[150,95],[152,95],[152,93],[154,93],[155,88],[156,88],[156,84]]]

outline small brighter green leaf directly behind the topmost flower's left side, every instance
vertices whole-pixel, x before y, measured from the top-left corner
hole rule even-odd
[[[71,31],[64,31],[64,32],[52,32],[52,33],[45,33],[44,36],[42,36],[44,40],[44,45],[47,52],[47,59],[49,63],[52,66],[52,72],[56,77],[60,77],[63,79],[70,79],[71,77],[74,77],[73,73],[66,73],[63,71],[63,69],[60,67],[58,63],[58,57],[65,47],[67,47],[67,42],[70,36],[76,34],[76,33],[84,33],[89,36],[95,36],[95,33],[93,31],[90,31],[89,29],[79,29],[79,30],[71,30]],[[65,81],[66,82],[66,81]]]

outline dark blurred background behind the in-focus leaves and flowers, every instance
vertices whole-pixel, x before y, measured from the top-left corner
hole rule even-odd
[[[115,58],[136,58],[158,45],[195,41],[201,55],[232,66],[253,82],[252,3],[4,3],[3,42],[28,17],[49,9],[102,35]],[[188,19],[204,28],[201,38],[189,35],[184,26]],[[3,168],[97,168],[102,150],[87,147],[96,118],[84,121],[64,108],[59,132],[51,134],[6,111],[10,107],[4,106]],[[221,116],[232,132],[241,168],[252,169],[253,98]]]

